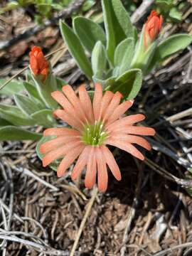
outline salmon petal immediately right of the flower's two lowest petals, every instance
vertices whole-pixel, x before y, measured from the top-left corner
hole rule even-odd
[[[119,171],[119,166],[114,160],[114,156],[112,152],[110,151],[110,149],[107,148],[107,146],[104,146],[104,145],[101,146],[101,149],[102,149],[102,154],[105,157],[105,161],[109,166],[110,170],[112,171],[114,178],[116,178],[117,181],[120,181],[122,179],[122,175]]]

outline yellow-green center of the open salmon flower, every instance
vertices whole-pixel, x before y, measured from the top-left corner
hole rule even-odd
[[[81,137],[82,142],[87,145],[100,146],[106,138],[107,132],[105,132],[102,122],[95,121],[95,124],[85,124]]]

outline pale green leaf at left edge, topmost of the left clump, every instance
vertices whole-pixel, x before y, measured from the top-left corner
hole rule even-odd
[[[0,80],[0,88],[2,85],[4,85],[5,82],[6,79]],[[22,90],[24,90],[22,81],[11,80],[11,82],[9,82],[5,87],[3,87],[3,89],[0,89],[0,94],[11,96],[15,93],[21,92]]]

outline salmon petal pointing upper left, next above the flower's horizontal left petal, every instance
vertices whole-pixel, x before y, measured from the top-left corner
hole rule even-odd
[[[75,118],[72,114],[65,112],[65,110],[55,110],[53,113],[76,129],[80,130],[83,126],[77,117]]]

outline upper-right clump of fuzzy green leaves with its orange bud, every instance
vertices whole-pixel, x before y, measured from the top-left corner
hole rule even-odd
[[[100,82],[103,90],[122,92],[125,99],[137,96],[143,75],[192,41],[186,33],[164,38],[162,16],[155,11],[139,36],[120,0],[102,0],[102,11],[105,31],[82,16],[73,19],[73,28],[60,21],[60,31],[87,78]]]

